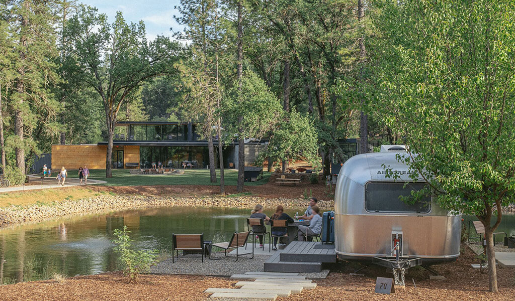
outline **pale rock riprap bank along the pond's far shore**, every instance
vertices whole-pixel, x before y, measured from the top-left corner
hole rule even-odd
[[[260,203],[268,208],[277,205],[303,207],[302,198],[261,198],[261,197],[152,197],[152,196],[112,196],[101,195],[81,200],[61,200],[51,204],[10,206],[0,208],[0,227],[16,223],[38,222],[76,214],[94,214],[108,211],[123,211],[163,206],[253,208]],[[320,200],[321,209],[330,210],[334,201]]]

